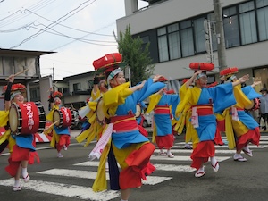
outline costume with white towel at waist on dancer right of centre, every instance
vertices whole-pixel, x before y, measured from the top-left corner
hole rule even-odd
[[[194,69],[195,70],[195,69]],[[197,71],[202,69],[197,69]],[[205,69],[203,69],[205,70]],[[180,123],[184,119],[190,121],[187,135],[193,142],[191,167],[197,170],[202,163],[214,156],[214,137],[216,132],[216,117],[225,108],[236,103],[231,84],[218,85],[213,88],[180,88],[180,104],[176,109],[176,116],[180,116]],[[181,122],[182,121],[182,122]]]

